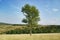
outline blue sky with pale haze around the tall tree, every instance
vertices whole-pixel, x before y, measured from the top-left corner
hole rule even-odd
[[[0,22],[22,24],[22,6],[30,4],[39,10],[42,25],[60,25],[60,0],[0,0]]]

